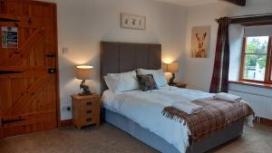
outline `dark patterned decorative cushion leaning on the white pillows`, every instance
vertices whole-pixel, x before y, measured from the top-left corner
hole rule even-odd
[[[137,75],[141,91],[159,90],[152,74]]]

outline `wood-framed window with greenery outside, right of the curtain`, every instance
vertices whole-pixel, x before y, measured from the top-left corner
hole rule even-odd
[[[240,80],[271,83],[271,40],[269,36],[244,38]]]

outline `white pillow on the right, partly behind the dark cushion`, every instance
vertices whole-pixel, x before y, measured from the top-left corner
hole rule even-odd
[[[168,86],[167,80],[162,69],[160,70],[137,69],[137,73],[140,75],[152,74],[158,87]]]

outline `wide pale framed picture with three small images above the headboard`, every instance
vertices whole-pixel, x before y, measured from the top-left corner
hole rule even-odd
[[[121,13],[121,28],[145,30],[146,16]]]

